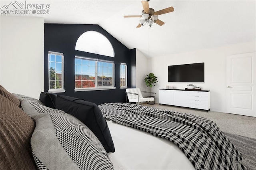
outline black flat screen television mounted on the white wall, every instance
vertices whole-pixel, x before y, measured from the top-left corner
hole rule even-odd
[[[168,82],[203,83],[204,63],[169,65]]]

